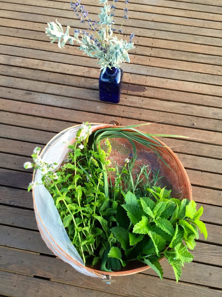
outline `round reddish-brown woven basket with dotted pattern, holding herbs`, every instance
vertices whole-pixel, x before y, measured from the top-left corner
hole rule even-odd
[[[113,126],[105,125],[105,126],[96,127],[95,129],[93,129],[93,132],[98,129],[110,128],[110,127],[113,127]],[[115,127],[119,127],[119,126],[115,126]],[[60,133],[64,133],[64,131]],[[164,146],[163,148],[159,147],[159,150],[160,150],[159,153],[163,158],[163,160],[169,165],[170,168],[167,165],[165,165],[165,163],[160,158],[158,158],[158,156],[151,149],[148,149],[147,147],[139,143],[135,143],[136,152],[137,152],[137,160],[136,160],[137,166],[135,166],[135,173],[137,169],[139,170],[140,165],[150,165],[152,170],[155,170],[155,169],[160,170],[159,171],[160,176],[163,176],[163,178],[161,179],[161,185],[166,186],[168,189],[171,189],[173,197],[179,198],[179,199],[187,198],[189,200],[192,200],[191,184],[187,176],[187,173],[184,169],[184,166],[182,165],[181,161],[178,159],[176,154],[174,154],[173,151],[168,146],[166,146],[162,141],[160,140],[158,141]],[[125,159],[127,157],[131,157],[131,154],[132,154],[131,143],[129,143],[124,138],[110,139],[110,142],[112,145],[112,153],[110,154],[110,160],[111,160],[110,166],[113,167],[113,165],[118,165],[121,167],[125,163]],[[50,146],[50,145],[52,145],[52,141],[50,141],[46,145],[45,149],[47,148],[47,146]],[[38,211],[35,207],[34,194],[33,194],[33,201],[34,201],[34,209],[35,211]],[[37,223],[39,219],[41,220],[41,217],[36,216]],[[41,222],[41,224],[44,225],[44,222]],[[41,228],[39,229],[40,229],[41,236],[46,242],[47,246],[53,251],[53,249],[50,247],[49,242],[47,242],[46,236],[44,236],[43,230]],[[105,276],[106,273],[104,271],[100,271],[99,266],[98,266],[98,269],[96,269],[97,267],[91,268],[91,267],[83,266],[75,259],[70,259],[70,256],[67,253],[65,253],[55,241],[54,241],[53,248],[54,250],[56,249],[58,251],[57,255],[61,253],[61,255],[63,256],[63,260],[65,255],[65,258],[67,258],[69,261],[75,263],[79,267],[84,267],[87,271],[91,273],[93,272],[95,276],[106,278]],[[161,258],[159,261],[161,260],[163,260],[163,258]],[[121,268],[121,270],[117,272],[109,272],[109,277],[135,274],[135,273],[144,271],[148,268],[150,267],[147,265],[144,265],[139,261],[132,261],[128,264],[127,267]]]

